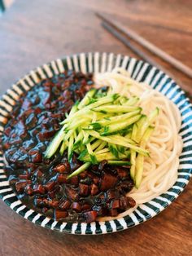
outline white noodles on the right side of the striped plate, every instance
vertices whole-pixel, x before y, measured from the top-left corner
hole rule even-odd
[[[142,107],[146,115],[156,107],[160,110],[154,122],[155,130],[146,144],[151,157],[145,157],[142,183],[138,189],[133,188],[127,194],[133,197],[137,205],[119,214],[120,218],[132,213],[138,205],[167,192],[176,182],[182,149],[181,136],[178,135],[181,128],[181,114],[171,100],[159,91],[153,90],[151,86],[133,80],[123,68],[113,69],[111,73],[98,73],[95,75],[95,82],[97,87],[109,86],[111,93],[128,97],[138,96],[140,98],[138,106]],[[111,219],[114,218],[98,218],[100,221]]]

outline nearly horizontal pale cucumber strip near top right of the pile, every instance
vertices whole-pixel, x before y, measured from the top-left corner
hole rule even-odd
[[[103,112],[103,113],[128,113],[138,110],[138,107],[133,106],[120,106],[120,105],[109,105],[109,106],[101,106],[98,108],[91,108],[93,111],[96,112]]]

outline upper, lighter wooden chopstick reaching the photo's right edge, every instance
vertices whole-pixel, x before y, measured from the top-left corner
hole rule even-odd
[[[96,13],[96,15],[98,15],[98,17],[107,24],[116,28],[121,33],[124,33],[124,35],[126,35],[127,37],[133,39],[135,42],[144,46],[147,50],[151,51],[155,55],[158,55],[162,60],[167,61],[169,64],[172,64],[172,66],[180,70],[182,73],[185,73],[185,75],[192,78],[192,69],[187,67],[185,64],[182,64],[181,61],[175,59],[171,55],[168,55],[166,52],[159,49],[159,47],[147,41],[145,38],[139,36],[132,29],[129,29],[127,26],[124,26],[124,24],[120,24],[118,21],[115,20],[110,20],[109,18],[107,18],[106,15],[100,13]]]

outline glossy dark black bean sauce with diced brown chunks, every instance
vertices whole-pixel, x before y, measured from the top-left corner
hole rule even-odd
[[[116,216],[135,205],[125,196],[133,188],[129,168],[103,161],[67,179],[82,165],[78,156],[74,154],[70,163],[66,154],[44,157],[59,122],[93,85],[91,74],[71,71],[39,82],[15,104],[1,138],[7,176],[17,196],[58,220],[90,223],[97,216]]]

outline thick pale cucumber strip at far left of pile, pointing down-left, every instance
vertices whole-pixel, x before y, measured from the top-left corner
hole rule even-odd
[[[52,157],[59,148],[59,145],[63,140],[64,129],[65,126],[63,126],[61,130],[59,130],[59,132],[55,135],[54,139],[50,142],[49,146],[46,148],[46,158]]]

